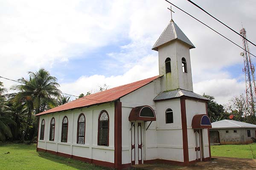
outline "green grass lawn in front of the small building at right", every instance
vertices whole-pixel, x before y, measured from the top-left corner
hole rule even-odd
[[[212,156],[256,159],[256,144],[225,144],[211,146]]]

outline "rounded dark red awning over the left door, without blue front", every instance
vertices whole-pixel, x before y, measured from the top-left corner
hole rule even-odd
[[[129,121],[142,120],[142,121],[155,121],[156,114],[150,106],[138,106],[131,110]]]

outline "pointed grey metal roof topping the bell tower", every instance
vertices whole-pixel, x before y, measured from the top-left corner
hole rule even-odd
[[[163,33],[158,38],[157,42],[154,44],[152,50],[158,51],[158,47],[167,44],[173,40],[180,40],[187,45],[189,48],[195,48],[195,45],[186,37],[186,35],[181,31],[177,24],[171,20],[168,26],[165,28]]]

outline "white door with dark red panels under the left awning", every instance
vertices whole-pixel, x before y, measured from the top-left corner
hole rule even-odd
[[[144,122],[131,124],[131,164],[143,164]]]

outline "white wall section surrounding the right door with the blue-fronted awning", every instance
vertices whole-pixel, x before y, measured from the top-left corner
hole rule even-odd
[[[188,131],[189,161],[195,160],[195,135],[192,129],[192,119],[197,114],[206,114],[206,103],[186,99],[186,119]],[[208,130],[202,130],[204,158],[209,157]]]

